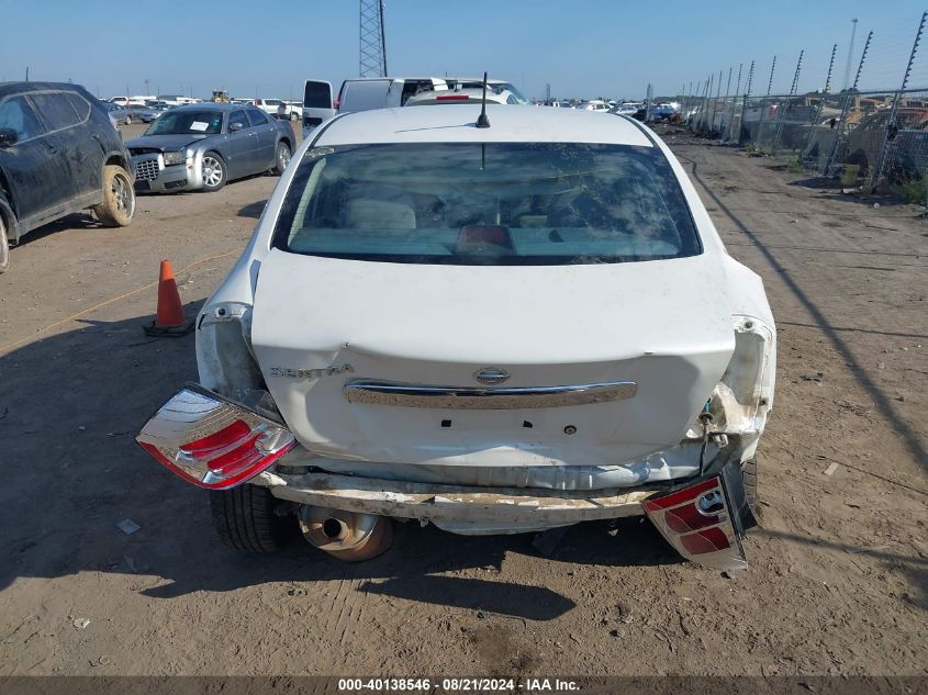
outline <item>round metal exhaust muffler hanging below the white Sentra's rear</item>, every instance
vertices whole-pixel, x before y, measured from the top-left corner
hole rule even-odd
[[[300,530],[320,550],[343,562],[361,562],[385,552],[393,542],[389,517],[303,505]]]

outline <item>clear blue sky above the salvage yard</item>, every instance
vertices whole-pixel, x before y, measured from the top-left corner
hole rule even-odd
[[[639,98],[728,68],[756,64],[754,93],[786,92],[805,49],[800,90],[824,86],[831,45],[836,78],[858,18],[857,68],[875,31],[862,87],[902,80],[921,12],[910,0],[678,2],[662,0],[385,0],[392,75],[507,78],[529,96]],[[334,83],[358,74],[357,0],[49,2],[0,0],[0,79],[68,80],[103,98],[145,92],[299,98],[308,77]],[[16,27],[16,31],[9,31]],[[913,85],[928,88],[928,40]],[[733,76],[731,89],[735,87]],[[257,92],[257,94],[256,94]]]

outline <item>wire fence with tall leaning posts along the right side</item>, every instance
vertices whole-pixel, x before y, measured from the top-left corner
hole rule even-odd
[[[910,202],[928,199],[928,51],[920,46],[926,21],[928,12],[923,12],[919,21],[869,30],[863,46],[856,47],[853,20],[840,87],[835,77],[839,43],[813,51],[813,58],[828,56],[827,71],[818,75],[804,74],[809,54],[803,49],[795,64],[789,56],[772,56],[769,71],[763,60],[752,59],[737,69],[714,70],[695,86],[683,81],[682,119],[696,134],[790,157],[792,165],[838,178],[846,187],[894,187]],[[765,91],[756,96],[759,70],[767,78]],[[790,72],[789,92],[774,92],[774,83]]]

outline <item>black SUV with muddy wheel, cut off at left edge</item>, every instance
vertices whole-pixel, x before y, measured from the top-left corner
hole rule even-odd
[[[135,213],[131,159],[100,102],[77,85],[0,82],[0,272],[10,244],[91,209],[107,226]]]

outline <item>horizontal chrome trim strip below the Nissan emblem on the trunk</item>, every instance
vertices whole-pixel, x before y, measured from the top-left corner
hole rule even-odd
[[[638,384],[634,381],[610,381],[562,386],[480,389],[353,379],[345,384],[343,391],[349,403],[437,410],[503,411],[624,401],[635,396]]]

